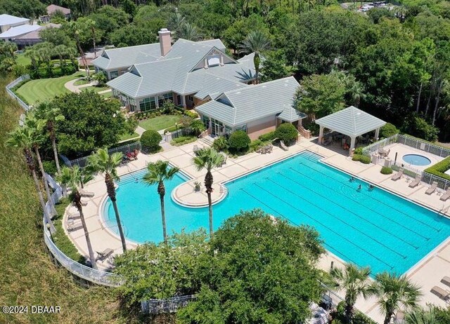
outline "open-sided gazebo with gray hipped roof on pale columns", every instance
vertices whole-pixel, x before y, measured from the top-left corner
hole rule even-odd
[[[328,128],[350,137],[350,152],[354,149],[356,137],[375,130],[375,138],[378,138],[380,128],[386,125],[385,121],[353,106],[317,119],[315,122],[320,126],[319,143],[323,139],[323,128]]]

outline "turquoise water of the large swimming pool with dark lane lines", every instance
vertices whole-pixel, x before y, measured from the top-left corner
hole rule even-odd
[[[450,235],[450,220],[390,194],[370,189],[366,182],[319,162],[304,152],[226,184],[228,196],[214,205],[214,227],[240,210],[262,208],[292,224],[315,227],[325,247],[347,262],[370,265],[380,271],[407,271]],[[117,202],[127,238],[143,243],[162,241],[159,196],[156,186],[138,181],[141,171],[119,182]],[[207,208],[184,208],[170,192],[186,181],[177,175],[167,182],[167,231],[208,227]],[[361,190],[358,190],[361,184]],[[105,218],[117,231],[107,201]]]

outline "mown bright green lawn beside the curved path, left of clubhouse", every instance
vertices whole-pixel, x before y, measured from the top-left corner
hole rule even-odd
[[[31,80],[18,88],[15,92],[23,97],[28,104],[52,100],[56,95],[63,95],[70,91],[64,84],[70,80],[84,76],[84,72],[75,72],[59,78]]]

